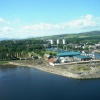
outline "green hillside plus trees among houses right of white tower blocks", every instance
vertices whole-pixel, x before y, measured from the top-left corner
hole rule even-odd
[[[60,40],[60,44],[58,44],[58,49],[67,49],[71,51],[86,51],[89,49],[93,50],[93,47],[89,48],[89,45],[95,45],[100,42],[100,31],[92,31],[92,32],[84,32],[77,34],[61,34],[61,35],[53,35],[53,36],[45,36],[39,37],[38,39],[44,40]],[[62,39],[66,39],[66,45],[62,44]],[[57,45],[57,44],[56,44]],[[76,45],[76,47],[75,47]],[[84,46],[84,48],[82,48]],[[50,46],[49,46],[50,47]]]

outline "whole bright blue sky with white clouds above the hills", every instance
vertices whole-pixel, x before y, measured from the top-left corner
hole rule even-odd
[[[100,30],[100,0],[0,0],[0,38]]]

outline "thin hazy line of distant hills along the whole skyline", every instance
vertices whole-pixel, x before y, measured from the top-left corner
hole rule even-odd
[[[43,36],[43,37],[29,37],[26,39],[68,39],[68,38],[93,38],[97,37],[100,38],[100,31],[90,31],[90,32],[82,32],[82,33],[73,33],[73,34],[59,34],[59,35],[52,35],[52,36]],[[23,39],[10,39],[10,38],[0,38],[2,40],[23,40]]]

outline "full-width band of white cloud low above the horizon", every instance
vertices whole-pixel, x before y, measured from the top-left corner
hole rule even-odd
[[[91,14],[86,16],[80,16],[78,19],[50,24],[50,23],[39,23],[31,25],[22,25],[21,20],[15,20],[10,24],[4,24],[10,21],[6,21],[0,18],[0,34],[2,36],[14,37],[14,38],[26,38],[31,36],[46,36],[53,34],[63,33],[75,33],[83,31],[91,31],[100,29],[100,17],[95,17]]]

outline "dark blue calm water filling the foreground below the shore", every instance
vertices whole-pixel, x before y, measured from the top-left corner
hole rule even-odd
[[[75,80],[28,67],[0,67],[0,100],[100,100],[100,79]]]

